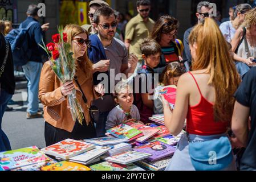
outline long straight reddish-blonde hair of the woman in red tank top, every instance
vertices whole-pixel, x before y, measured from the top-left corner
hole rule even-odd
[[[241,79],[229,55],[226,40],[213,19],[205,18],[193,28],[189,44],[194,43],[197,43],[197,56],[192,69],[206,69],[210,74],[208,84],[212,84],[216,91],[214,121],[230,122],[235,102],[233,94]]]

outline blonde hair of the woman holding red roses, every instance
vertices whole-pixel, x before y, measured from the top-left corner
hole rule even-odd
[[[68,40],[68,43],[70,43],[70,44],[72,42],[72,38],[74,38],[74,36],[79,35],[79,34],[84,33],[87,35],[87,39],[89,39],[88,32],[84,28],[82,28],[76,24],[68,24],[67,26],[64,27],[63,32],[67,34],[67,40]],[[87,51],[88,51],[88,48],[86,49],[86,52],[84,53],[83,57],[79,57],[78,61],[77,61],[77,63],[78,63],[77,66],[82,68],[84,73],[86,73],[85,78],[90,77],[91,73],[92,73],[92,63],[87,56]]]

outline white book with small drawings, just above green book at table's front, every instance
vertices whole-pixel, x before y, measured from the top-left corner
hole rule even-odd
[[[100,158],[118,164],[129,164],[141,159],[148,158],[151,155],[152,154],[147,154],[143,152],[127,151],[114,156],[101,156]]]

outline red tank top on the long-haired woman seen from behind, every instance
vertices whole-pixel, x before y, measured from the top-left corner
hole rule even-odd
[[[202,96],[201,90],[197,84],[196,79],[194,78],[192,73],[190,73],[190,75],[196,82],[197,88],[200,92],[201,99],[197,105],[189,105],[188,107],[188,115],[186,116],[186,130],[188,131],[189,134],[196,135],[217,135],[225,133],[227,131],[229,123],[214,121],[213,104],[206,100],[204,96]]]

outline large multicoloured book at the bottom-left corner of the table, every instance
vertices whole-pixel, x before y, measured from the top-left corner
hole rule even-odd
[[[43,154],[36,146],[0,152],[0,171],[7,171],[49,160],[50,158]]]

